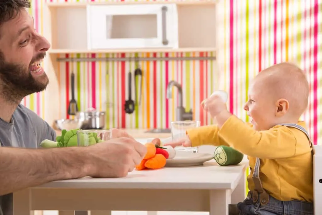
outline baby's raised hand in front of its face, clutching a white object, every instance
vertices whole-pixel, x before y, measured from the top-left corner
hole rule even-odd
[[[210,113],[212,118],[216,117],[220,112],[227,110],[226,103],[224,103],[219,95],[211,95],[201,103],[201,106]]]

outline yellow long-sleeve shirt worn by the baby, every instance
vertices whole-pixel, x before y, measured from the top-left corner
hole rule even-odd
[[[304,122],[298,125],[306,127]],[[192,146],[227,145],[248,156],[251,169],[248,188],[254,190],[251,178],[256,158],[260,158],[263,188],[281,201],[313,202],[313,157],[306,134],[296,128],[276,125],[267,131],[255,131],[232,115],[218,129],[215,125],[187,131]]]

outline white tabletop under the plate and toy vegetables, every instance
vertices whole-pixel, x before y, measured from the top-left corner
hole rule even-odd
[[[234,189],[247,166],[247,162],[219,166],[215,161],[207,161],[203,166],[135,170],[124,178],[87,177],[53,181],[36,188]]]

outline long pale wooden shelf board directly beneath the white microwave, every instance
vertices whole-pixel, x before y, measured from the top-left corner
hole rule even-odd
[[[83,54],[83,53],[149,53],[149,52],[215,52],[215,48],[179,48],[179,49],[102,49],[102,50],[75,50],[50,49],[49,54]]]

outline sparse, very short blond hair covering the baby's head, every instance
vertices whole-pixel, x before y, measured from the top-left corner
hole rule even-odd
[[[280,63],[261,71],[257,76],[276,99],[289,101],[289,112],[300,117],[308,107],[309,84],[306,75],[297,65]]]

